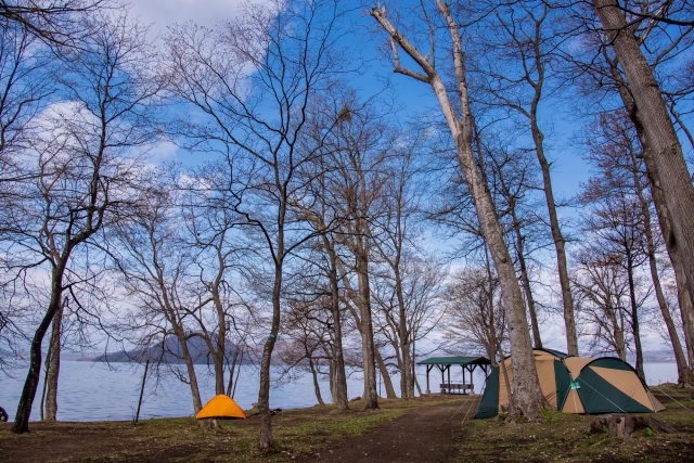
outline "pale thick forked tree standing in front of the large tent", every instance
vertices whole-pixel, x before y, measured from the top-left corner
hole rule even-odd
[[[436,94],[441,113],[446,118],[448,128],[455,143],[458,159],[464,172],[465,181],[472,192],[477,217],[484,231],[485,241],[490,248],[501,284],[511,349],[514,356],[513,402],[516,408],[512,410],[511,414],[523,414],[529,420],[540,420],[542,397],[532,360],[532,344],[528,332],[523,293],[518,286],[513,260],[504,242],[503,230],[499,223],[488,185],[485,184],[484,178],[478,170],[472,146],[474,124],[467,91],[465,53],[461,38],[461,25],[460,22],[455,21],[454,14],[447,3],[437,0],[436,5],[438,11],[433,14],[439,20],[442,20],[444,24],[440,25],[440,29],[439,24],[433,23],[432,18],[434,16],[429,15],[426,10],[424,11],[426,18],[424,26],[430,30],[428,37],[429,44],[427,46],[430,47],[430,51],[427,49],[428,54],[423,53],[416,48],[416,46],[388,20],[385,8],[374,8],[370,11],[370,14],[388,34],[391,43],[395,72],[429,85]],[[457,11],[457,14],[462,15],[464,13],[463,11]],[[449,46],[452,48],[452,56],[450,57],[452,63],[449,62],[449,64],[452,64],[454,77],[450,86],[445,83],[445,76],[441,75],[437,68],[438,56],[435,54],[437,30],[448,33],[450,39]],[[440,37],[438,38],[440,39]],[[419,66],[419,70],[402,66],[399,55],[400,51],[412,59],[414,64]],[[451,97],[457,98],[455,103],[453,103]]]

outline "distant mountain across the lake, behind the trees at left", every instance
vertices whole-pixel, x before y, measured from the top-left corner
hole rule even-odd
[[[188,339],[188,350],[196,364],[211,364],[213,359],[209,357],[207,344],[198,336]],[[233,356],[239,347],[231,342],[227,342],[227,352]],[[142,349],[120,350],[118,352],[108,352],[90,359],[94,362],[145,362],[160,361],[163,363],[184,363],[181,344],[177,337],[170,336],[154,346]],[[252,363],[248,355],[243,357],[244,363]]]

